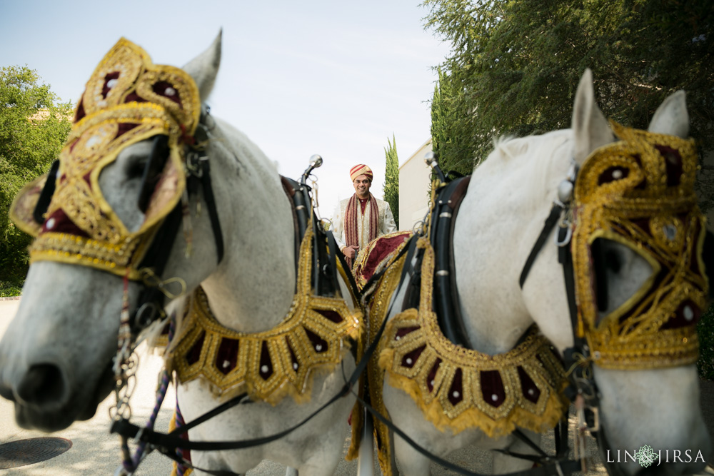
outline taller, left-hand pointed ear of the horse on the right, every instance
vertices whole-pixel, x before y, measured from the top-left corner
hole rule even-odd
[[[575,91],[572,127],[575,134],[573,156],[580,166],[590,152],[615,140],[607,119],[595,103],[593,72],[590,69],[585,69],[578,84],[578,91]]]

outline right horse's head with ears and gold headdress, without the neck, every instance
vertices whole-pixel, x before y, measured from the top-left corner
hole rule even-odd
[[[695,366],[708,278],[684,91],[648,131],[613,130],[616,145],[585,74],[573,111],[575,335],[592,361],[600,451],[615,473],[693,472],[710,452]],[[647,446],[652,467],[616,456]]]

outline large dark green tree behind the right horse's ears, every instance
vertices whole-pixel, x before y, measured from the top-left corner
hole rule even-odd
[[[570,126],[585,68],[605,116],[645,128],[678,89],[691,136],[714,151],[714,9],[708,0],[425,0],[426,28],[451,44],[456,121],[478,162],[494,136]],[[466,111],[468,118],[458,116]],[[463,131],[465,126],[459,126]],[[446,168],[446,167],[445,167]],[[711,171],[709,171],[711,173]],[[712,177],[709,177],[709,182]],[[701,181],[705,184],[707,181]],[[714,191],[703,193],[709,206]]]

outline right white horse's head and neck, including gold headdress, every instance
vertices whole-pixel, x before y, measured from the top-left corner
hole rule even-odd
[[[701,470],[710,449],[695,366],[705,229],[687,135],[682,91],[648,131],[608,124],[588,70],[572,128],[498,141],[456,218],[471,346],[505,353],[538,324],[580,383],[580,405],[597,409],[603,460],[627,475],[653,470],[633,456],[645,445],[675,473]]]

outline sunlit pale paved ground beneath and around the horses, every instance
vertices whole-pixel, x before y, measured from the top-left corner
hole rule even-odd
[[[19,300],[0,301],[0,336],[5,333],[7,325],[14,316]],[[156,376],[161,370],[161,359],[154,355],[141,355],[141,364],[138,373],[138,385],[134,396],[131,399],[131,407],[134,412],[133,421],[144,422],[149,417],[154,407],[154,391],[156,386]],[[710,425],[710,433],[714,434],[714,383],[703,383],[703,395],[705,400],[703,405],[705,419]],[[171,404],[175,400],[174,389],[170,388],[166,395],[166,405],[159,413],[156,428],[166,430],[171,418]],[[77,422],[68,429],[57,432],[51,436],[61,437],[71,440],[72,447],[61,455],[44,462],[32,465],[16,467],[7,470],[0,470],[1,475],[52,475],[52,476],[76,476],[76,475],[112,475],[120,465],[119,439],[116,435],[109,434],[109,407],[114,401],[114,397],[109,397],[97,410],[96,415],[86,422]],[[573,418],[570,420],[571,427],[574,425]],[[11,402],[0,398],[0,444],[24,440],[35,437],[46,437],[48,435],[32,430],[23,430],[15,424],[14,410]],[[347,435],[346,435],[347,438]],[[553,433],[545,435],[543,440],[545,450],[553,452],[555,447]],[[593,466],[590,467],[588,475],[605,475],[603,465],[597,455],[597,448],[593,438],[588,437],[588,454],[592,458]],[[348,447],[346,439],[345,449]],[[571,455],[572,456],[572,455]],[[491,459],[487,452],[469,447],[453,453],[449,458],[452,462],[470,470],[483,474],[491,473]],[[276,463],[264,461],[259,467],[248,476],[283,476],[286,468]],[[139,467],[137,476],[142,475],[169,475],[171,464],[166,457],[158,454],[150,455]],[[336,475],[351,476],[356,474],[356,462],[341,462]],[[378,475],[379,472],[376,471]],[[434,476],[452,475],[451,471],[444,470],[437,465],[433,465],[432,474]],[[309,475],[306,475],[309,476]]]

